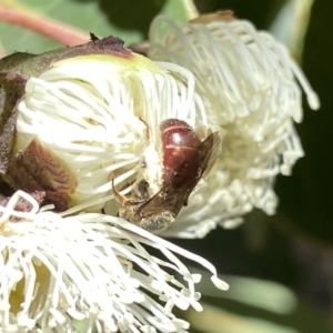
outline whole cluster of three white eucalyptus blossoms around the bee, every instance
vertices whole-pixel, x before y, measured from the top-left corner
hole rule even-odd
[[[286,49],[220,13],[157,18],[147,56],[109,37],[0,61],[0,186],[16,191],[0,202],[0,331],[188,332],[173,309],[202,310],[200,275],[179,256],[228,289],[205,260],[117,216],[114,186],[161,193],[164,120],[216,133],[221,153],[162,236],[274,213],[274,179],[303,155],[302,89],[319,108]]]

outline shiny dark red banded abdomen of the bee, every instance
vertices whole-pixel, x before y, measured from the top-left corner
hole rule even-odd
[[[175,185],[185,182],[189,178],[194,178],[196,174],[192,174],[193,170],[198,171],[201,164],[201,160],[192,158],[201,142],[198,134],[186,122],[178,119],[164,120],[160,129],[164,183],[171,176],[173,176]]]

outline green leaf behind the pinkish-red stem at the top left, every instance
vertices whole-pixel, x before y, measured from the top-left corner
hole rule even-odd
[[[90,0],[17,0],[11,6],[61,21],[97,37],[110,34],[122,38],[125,44],[147,38],[152,19],[161,13],[176,21],[193,17],[188,0],[90,1]],[[40,53],[60,44],[27,29],[0,22],[0,41],[7,54],[14,51]]]

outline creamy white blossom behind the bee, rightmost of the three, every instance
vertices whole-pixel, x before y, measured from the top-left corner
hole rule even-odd
[[[254,208],[274,214],[275,176],[290,175],[304,155],[294,128],[303,117],[302,90],[313,110],[320,107],[287,49],[222,11],[181,24],[155,18],[148,56],[194,74],[210,127],[224,133],[210,176],[165,235],[202,238],[218,224],[235,228]]]

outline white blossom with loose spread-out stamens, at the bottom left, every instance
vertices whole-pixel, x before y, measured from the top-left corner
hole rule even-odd
[[[23,191],[0,203],[1,332],[188,332],[173,309],[202,311],[201,276],[179,256],[228,289],[208,261],[125,220],[39,206]]]

